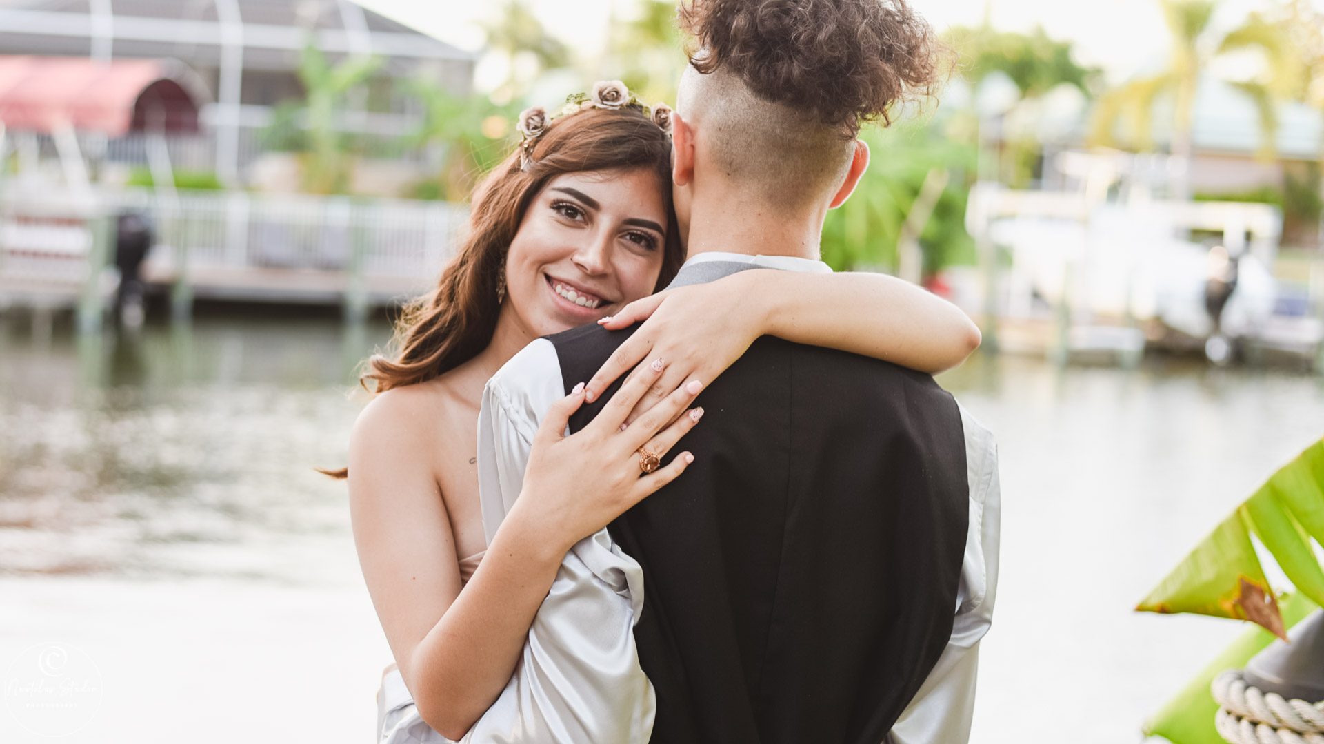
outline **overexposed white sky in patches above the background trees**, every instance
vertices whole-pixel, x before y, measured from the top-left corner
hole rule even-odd
[[[483,32],[475,21],[498,7],[498,3],[485,0],[360,1],[469,50],[478,50],[483,42]],[[585,54],[592,54],[600,46],[610,13],[624,15],[632,7],[629,0],[527,1],[551,33],[583,49]],[[1051,37],[1074,41],[1078,61],[1104,68],[1112,81],[1157,68],[1168,52],[1168,32],[1157,0],[911,1],[939,30],[951,25],[978,24],[985,12],[998,29],[1030,30],[1042,25]],[[1214,25],[1233,28],[1246,13],[1264,5],[1264,0],[1223,0]]]

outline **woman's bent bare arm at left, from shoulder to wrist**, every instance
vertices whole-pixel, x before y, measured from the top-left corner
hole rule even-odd
[[[418,420],[412,392],[377,396],[355,424],[354,539],[420,715],[444,736],[459,739],[471,725],[465,720],[477,720],[510,679],[564,553],[543,536],[522,536],[520,520],[514,520],[495,535],[461,590],[450,519],[432,471],[434,437]]]

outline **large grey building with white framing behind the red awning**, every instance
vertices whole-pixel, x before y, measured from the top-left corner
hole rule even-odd
[[[214,171],[240,185],[261,155],[275,106],[303,97],[298,68],[308,45],[330,64],[383,60],[372,83],[350,98],[338,127],[399,138],[421,113],[401,82],[424,75],[467,94],[474,56],[350,0],[0,0],[0,56],[177,60],[208,99],[201,135],[172,138],[176,167]],[[99,150],[99,147],[97,147]],[[111,160],[146,163],[142,136],[106,143]]]

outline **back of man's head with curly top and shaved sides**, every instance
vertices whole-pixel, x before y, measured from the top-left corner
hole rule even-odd
[[[906,0],[688,0],[678,110],[711,164],[769,207],[829,199],[861,124],[891,123],[939,77],[929,25]]]

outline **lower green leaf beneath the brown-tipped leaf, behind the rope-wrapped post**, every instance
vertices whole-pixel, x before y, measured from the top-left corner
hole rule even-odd
[[[1300,593],[1283,597],[1283,625],[1291,628],[1315,612],[1315,602]],[[1262,628],[1250,628],[1209,663],[1161,711],[1145,723],[1145,733],[1162,736],[1173,744],[1226,744],[1214,729],[1218,703],[1209,686],[1219,673],[1246,666],[1246,662],[1274,641]]]

